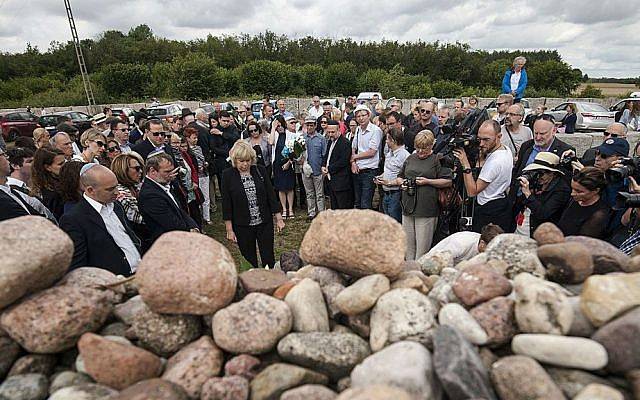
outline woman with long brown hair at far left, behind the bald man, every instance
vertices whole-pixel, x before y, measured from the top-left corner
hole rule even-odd
[[[31,194],[40,198],[58,220],[64,214],[64,200],[57,189],[65,161],[62,150],[43,147],[34,154],[31,166]]]

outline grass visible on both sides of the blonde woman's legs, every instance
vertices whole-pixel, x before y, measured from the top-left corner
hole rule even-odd
[[[222,221],[222,204],[218,200],[218,209],[215,213],[211,214],[211,221],[213,224],[205,227],[205,233],[218,242],[222,243],[229,249],[233,259],[236,261],[236,266],[240,271],[245,271],[251,268],[251,264],[242,257],[238,245],[227,240],[226,230],[224,227],[224,221]],[[307,212],[299,208],[295,209],[296,217],[294,219],[285,220],[284,230],[275,235],[275,253],[276,261],[280,260],[280,254],[284,251],[298,250],[302,238],[305,232],[309,228],[309,222],[306,221]]]

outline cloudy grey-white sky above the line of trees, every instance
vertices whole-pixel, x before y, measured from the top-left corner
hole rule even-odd
[[[72,0],[78,34],[203,38],[271,30],[289,37],[461,41],[476,49],[557,49],[592,77],[640,76],[637,0]],[[61,0],[0,0],[0,51],[71,38]]]

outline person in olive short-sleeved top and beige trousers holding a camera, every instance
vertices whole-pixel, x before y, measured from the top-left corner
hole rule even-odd
[[[440,165],[433,152],[431,131],[415,137],[416,152],[407,157],[395,185],[402,185],[402,227],[407,234],[406,259],[416,260],[431,248],[440,207],[438,188],[452,185],[451,170]]]

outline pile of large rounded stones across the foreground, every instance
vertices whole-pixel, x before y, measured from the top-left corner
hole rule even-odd
[[[280,269],[172,232],[128,282],[44,219],[0,237],[0,399],[640,399],[640,256],[553,225],[404,262],[391,218],[326,211]]]

